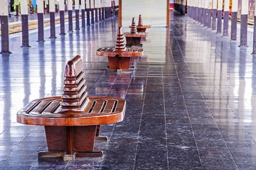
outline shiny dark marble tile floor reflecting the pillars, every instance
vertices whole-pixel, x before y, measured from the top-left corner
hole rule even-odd
[[[56,31],[59,26],[56,25]],[[67,29],[66,29],[67,30]],[[125,31],[129,28],[125,27]],[[0,170],[255,170],[256,58],[248,48],[171,14],[171,27],[154,27],[133,73],[106,72],[98,47],[114,45],[117,18],[0,56]],[[45,36],[50,30],[46,28]],[[239,37],[239,36],[238,36]],[[102,125],[108,142],[100,158],[38,159],[47,151],[44,127],[16,122],[28,102],[62,94],[64,67],[84,59],[89,95],[125,98],[125,118]]]

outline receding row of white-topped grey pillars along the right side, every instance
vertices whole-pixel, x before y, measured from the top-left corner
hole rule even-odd
[[[187,4],[185,0],[179,0],[181,3],[176,3],[175,9],[182,14],[186,13],[188,17],[195,19],[207,28],[216,30],[218,34],[222,33],[222,36],[228,36],[228,22],[229,22],[229,8],[231,6],[231,40],[237,40],[237,20],[238,20],[238,8],[240,6],[240,45],[239,47],[247,46],[247,28],[248,28],[248,14],[249,6],[253,4],[249,3],[249,0],[188,0]],[[256,8],[256,6],[255,6]],[[254,10],[255,11],[255,10]],[[222,12],[223,12],[223,28],[222,28]],[[256,23],[256,13],[254,17],[254,23]],[[254,44],[253,54],[256,54],[256,24],[254,24]]]

